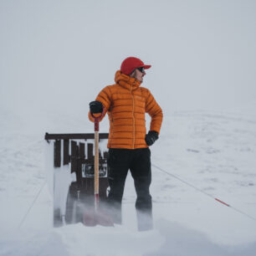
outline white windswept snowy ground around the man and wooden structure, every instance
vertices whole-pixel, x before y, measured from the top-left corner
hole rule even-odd
[[[165,116],[161,139],[151,147],[152,163],[256,218],[253,113],[187,111]],[[152,167],[152,231],[136,231],[131,176],[125,187],[122,226],[86,228],[78,223],[52,228],[44,133],[2,127],[0,255],[255,255],[255,220],[156,167]]]

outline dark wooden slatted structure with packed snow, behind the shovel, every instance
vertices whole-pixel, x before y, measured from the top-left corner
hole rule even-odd
[[[54,196],[54,227],[83,222],[83,214],[94,206],[95,134],[45,134],[47,169]],[[107,139],[99,134],[100,202],[105,202],[108,188]]]

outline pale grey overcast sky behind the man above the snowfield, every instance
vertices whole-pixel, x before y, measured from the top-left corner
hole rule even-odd
[[[84,115],[128,56],[166,115],[256,99],[253,0],[1,0],[0,37],[0,105],[19,113]]]

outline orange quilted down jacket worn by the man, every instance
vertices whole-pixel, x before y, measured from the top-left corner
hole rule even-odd
[[[115,73],[115,84],[100,91],[96,100],[104,105],[110,120],[108,148],[136,149],[146,145],[145,113],[151,115],[150,131],[161,129],[161,107],[151,95],[150,90],[140,87],[141,82],[120,70]],[[98,114],[97,114],[98,115]],[[89,112],[89,119],[94,121]]]

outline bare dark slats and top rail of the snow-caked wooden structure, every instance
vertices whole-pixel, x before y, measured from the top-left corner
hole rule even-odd
[[[83,213],[87,207],[94,205],[94,134],[46,134],[45,140],[54,140],[54,168],[64,165],[70,166],[70,173],[74,172],[75,182],[71,182],[66,201],[65,214],[54,208],[54,227],[64,223],[79,223],[83,221]],[[100,133],[100,140],[106,140],[108,134]],[[79,141],[75,141],[79,140]],[[84,140],[84,142],[81,142]],[[86,149],[86,153],[85,153]],[[69,155],[69,152],[71,153]],[[108,173],[107,151],[100,151],[99,182],[100,202],[107,197]],[[61,159],[63,157],[63,159]]]

